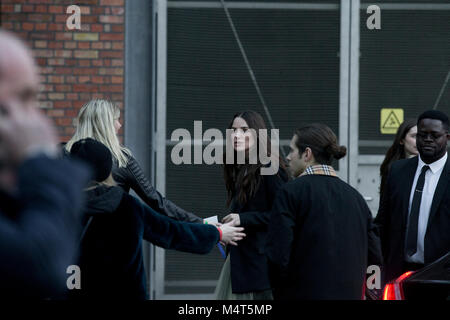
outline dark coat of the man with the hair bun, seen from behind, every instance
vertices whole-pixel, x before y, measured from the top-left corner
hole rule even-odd
[[[275,299],[361,299],[381,263],[363,197],[338,177],[301,176],[278,193],[267,254]]]

